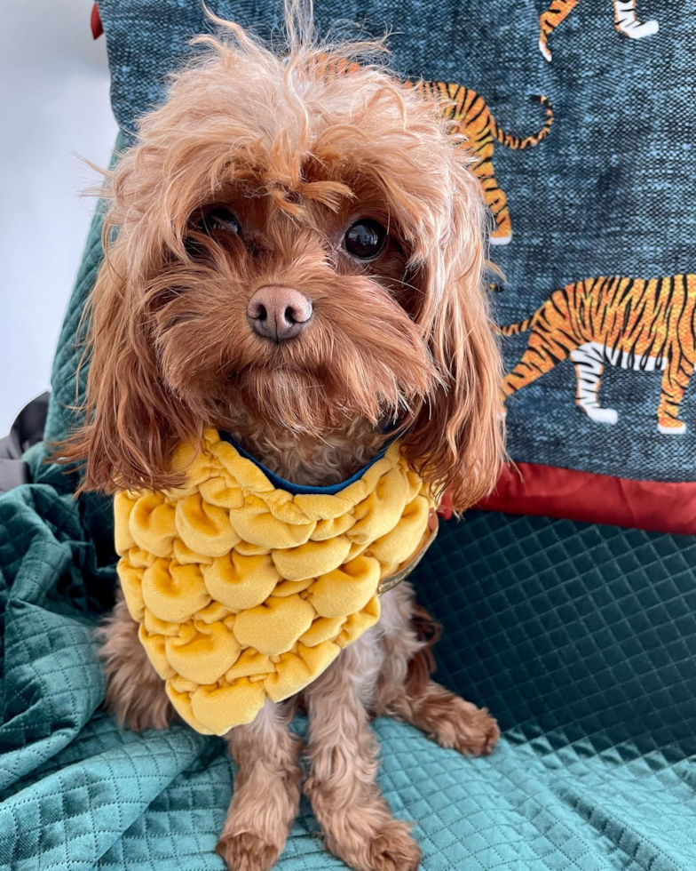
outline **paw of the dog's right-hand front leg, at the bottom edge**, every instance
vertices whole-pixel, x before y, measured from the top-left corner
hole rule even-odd
[[[327,832],[327,846],[356,871],[416,871],[421,851],[409,829],[398,819],[388,819],[369,834],[359,828],[345,829],[341,838]]]

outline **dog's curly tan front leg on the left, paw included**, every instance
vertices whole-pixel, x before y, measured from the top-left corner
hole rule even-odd
[[[253,723],[225,736],[238,770],[217,851],[231,871],[268,871],[285,847],[302,779],[292,714],[291,703],[266,702]]]

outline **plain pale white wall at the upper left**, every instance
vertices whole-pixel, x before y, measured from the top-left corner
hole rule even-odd
[[[91,0],[3,4],[0,51],[0,435],[49,386],[51,358],[116,124]]]

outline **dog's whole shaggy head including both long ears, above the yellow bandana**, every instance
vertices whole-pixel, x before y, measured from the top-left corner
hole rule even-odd
[[[113,173],[92,300],[88,486],[173,483],[171,445],[243,417],[403,428],[455,506],[494,480],[499,359],[482,204],[438,107],[375,68],[241,32],[176,76]]]

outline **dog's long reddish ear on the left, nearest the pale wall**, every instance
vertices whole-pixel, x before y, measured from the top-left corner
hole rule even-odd
[[[82,468],[81,490],[161,490],[178,483],[168,469],[170,448],[191,435],[192,423],[158,372],[146,294],[130,277],[127,234],[108,244],[108,232],[107,220],[107,254],[85,312],[83,423],[52,459]]]

